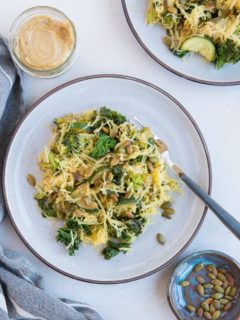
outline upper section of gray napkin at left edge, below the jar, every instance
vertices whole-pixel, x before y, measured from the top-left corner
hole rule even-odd
[[[0,181],[2,181],[3,162],[9,139],[25,111],[20,76],[11,59],[7,42],[0,36]],[[0,222],[4,211],[2,183],[0,183]]]

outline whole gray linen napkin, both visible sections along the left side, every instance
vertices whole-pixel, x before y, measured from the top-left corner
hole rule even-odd
[[[4,215],[2,169],[9,139],[26,111],[21,73],[0,36],[0,221]],[[41,277],[28,260],[0,246],[0,320],[102,320],[86,304],[57,299],[41,289]]]

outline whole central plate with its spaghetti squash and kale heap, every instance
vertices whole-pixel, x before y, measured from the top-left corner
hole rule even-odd
[[[167,167],[154,133],[210,192],[203,136],[160,88],[99,75],[38,100],[12,137],[3,179],[9,216],[28,248],[53,269],[94,283],[136,280],[176,258],[206,208]]]

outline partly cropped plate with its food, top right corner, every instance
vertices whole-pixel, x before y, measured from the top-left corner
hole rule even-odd
[[[122,0],[150,56],[175,74],[212,85],[240,83],[240,5],[223,0]]]

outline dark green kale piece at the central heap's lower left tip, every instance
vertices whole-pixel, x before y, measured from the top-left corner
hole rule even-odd
[[[56,240],[65,245],[70,256],[74,255],[75,251],[79,249],[79,245],[81,243],[77,232],[69,228],[59,228],[57,230]]]

